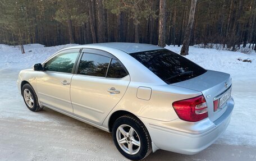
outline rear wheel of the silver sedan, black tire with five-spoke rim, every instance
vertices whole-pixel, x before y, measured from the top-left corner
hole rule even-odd
[[[119,117],[113,124],[112,137],[118,151],[130,160],[144,159],[152,152],[149,132],[135,116]]]

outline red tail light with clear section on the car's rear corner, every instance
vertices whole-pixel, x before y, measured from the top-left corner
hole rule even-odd
[[[173,102],[172,106],[184,121],[196,122],[208,117],[207,103],[203,95]]]

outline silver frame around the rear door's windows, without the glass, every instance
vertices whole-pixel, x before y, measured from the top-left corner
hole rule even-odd
[[[110,61],[109,61],[109,64],[108,64],[108,68],[107,68],[107,72],[106,72],[105,77],[83,75],[83,74],[79,74],[78,73],[78,69],[79,69],[79,65],[80,65],[80,62],[81,62],[81,58],[83,57],[84,54],[95,54],[95,55],[99,55],[99,56],[104,56],[104,57],[110,58]],[[77,75],[77,76],[95,77],[95,78],[111,79],[111,80],[122,80],[122,79],[125,79],[125,77],[122,77],[122,78],[108,78],[107,77],[108,69],[109,69],[109,66],[110,66],[110,64],[112,62],[112,59],[117,60],[120,63],[120,65],[122,66],[122,68],[124,68],[125,72],[127,73],[127,75],[125,77],[130,75],[129,72],[127,71],[126,67],[122,64],[122,62],[118,58],[113,56],[113,54],[108,53],[108,52],[106,52],[104,50],[92,49],[92,48],[83,48],[83,49],[81,49],[81,53],[80,53],[79,59],[78,59],[78,61],[76,63],[74,74]]]

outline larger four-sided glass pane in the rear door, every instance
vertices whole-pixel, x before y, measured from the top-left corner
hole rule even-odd
[[[98,54],[84,53],[78,68],[79,74],[106,77],[111,58]]]

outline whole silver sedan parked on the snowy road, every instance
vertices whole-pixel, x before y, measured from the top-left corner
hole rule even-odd
[[[158,149],[195,154],[226,130],[231,77],[149,44],[62,49],[17,80],[31,111],[51,108],[111,132],[131,160]]]

